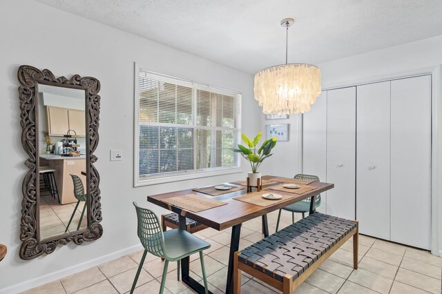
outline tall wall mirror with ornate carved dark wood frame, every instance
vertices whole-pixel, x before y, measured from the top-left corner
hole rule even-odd
[[[99,81],[21,66],[22,144],[30,169],[23,181],[20,257],[102,235],[98,143]]]

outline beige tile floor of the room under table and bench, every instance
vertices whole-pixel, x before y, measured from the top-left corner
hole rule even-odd
[[[275,231],[277,212],[269,214],[269,228]],[[284,212],[282,226],[291,222]],[[134,224],[135,225],[135,224]],[[262,238],[260,219],[242,226],[240,248]],[[230,229],[222,233],[211,228],[195,235],[212,244],[206,250],[204,262],[209,290],[223,293],[227,276]],[[352,241],[344,244],[318,268],[295,293],[441,293],[442,258],[416,248],[401,246],[380,239],[360,236],[359,268],[352,266]],[[128,293],[140,262],[142,251],[101,264],[81,273],[39,286],[26,293]],[[198,255],[191,257],[191,275],[202,280]],[[135,293],[158,293],[162,275],[161,260],[148,255],[144,262]],[[176,280],[176,264],[169,265],[164,293],[193,293]],[[249,275],[242,275],[242,293],[276,293]]]

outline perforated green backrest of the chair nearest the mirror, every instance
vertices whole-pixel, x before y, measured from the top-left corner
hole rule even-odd
[[[158,257],[164,257],[164,235],[160,220],[152,210],[142,208],[133,202],[137,210],[138,237],[146,251]]]

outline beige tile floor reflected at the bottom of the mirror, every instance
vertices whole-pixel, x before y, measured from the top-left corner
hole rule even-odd
[[[86,202],[80,202],[77,212],[70,223],[68,233],[77,231],[78,222],[81,216],[81,210]],[[63,235],[68,226],[70,216],[72,215],[75,205],[70,203],[61,205],[58,199],[52,198],[50,195],[40,197],[40,237],[46,239],[57,235]],[[84,212],[86,215],[86,211]],[[88,221],[86,216],[81,221],[80,230],[86,228]]]

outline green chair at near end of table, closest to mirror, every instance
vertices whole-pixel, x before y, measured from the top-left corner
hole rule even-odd
[[[210,248],[211,244],[203,241],[202,239],[195,237],[191,233],[175,228],[163,233],[160,220],[153,211],[147,208],[142,208],[137,205],[137,202],[133,202],[135,210],[137,210],[138,218],[138,237],[144,247],[144,253],[141,257],[140,266],[138,266],[135,280],[133,280],[131,293],[135,290],[138,277],[140,276],[141,269],[144,264],[146,254],[152,253],[157,257],[165,259],[163,275],[161,278],[160,294],[164,291],[164,284],[166,283],[167,266],[169,262],[177,262],[177,279],[180,280],[180,260],[193,255],[194,253],[200,253],[200,261],[202,268],[202,277],[204,280],[204,288],[206,294],[207,290],[207,278],[206,269],[204,267],[204,259],[202,251]]]

